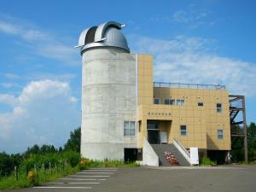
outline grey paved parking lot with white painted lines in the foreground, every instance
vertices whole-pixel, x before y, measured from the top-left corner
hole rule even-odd
[[[255,192],[256,166],[91,169],[13,192]]]

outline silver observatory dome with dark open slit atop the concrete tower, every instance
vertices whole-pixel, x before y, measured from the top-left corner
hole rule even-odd
[[[121,32],[123,26],[125,25],[108,21],[100,26],[85,29],[79,37],[78,47],[81,47],[81,53],[95,47],[115,47],[130,52],[126,38]]]

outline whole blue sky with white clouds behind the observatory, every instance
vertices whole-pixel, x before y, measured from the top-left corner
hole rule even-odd
[[[125,23],[131,52],[154,55],[154,80],[225,84],[256,114],[255,1],[2,1],[0,151],[61,146],[80,125],[86,27]]]

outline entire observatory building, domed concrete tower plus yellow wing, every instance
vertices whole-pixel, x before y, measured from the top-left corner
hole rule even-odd
[[[79,38],[82,156],[142,159],[145,139],[149,144],[177,139],[202,154],[230,151],[224,86],[154,82],[153,56],[130,53],[122,27],[110,21],[85,29]]]

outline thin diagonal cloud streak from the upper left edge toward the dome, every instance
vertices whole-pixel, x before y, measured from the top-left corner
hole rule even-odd
[[[73,49],[73,45],[68,45],[59,36],[38,30],[24,21],[0,18],[0,32],[19,37],[29,45],[26,49],[31,49],[36,55],[71,65],[80,64],[78,52]]]

